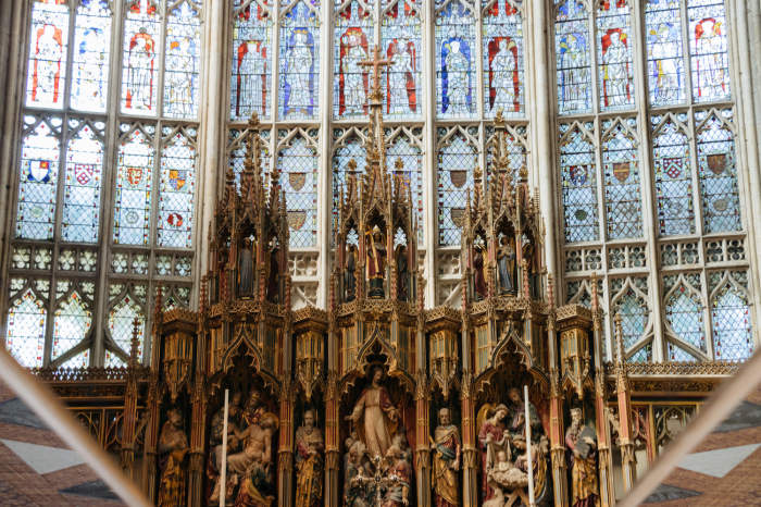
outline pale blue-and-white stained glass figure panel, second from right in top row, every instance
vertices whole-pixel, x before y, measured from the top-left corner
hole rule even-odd
[[[677,0],[649,0],[645,5],[648,83],[652,106],[685,101],[682,20]]]

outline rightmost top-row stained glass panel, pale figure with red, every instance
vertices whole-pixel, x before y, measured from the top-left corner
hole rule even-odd
[[[724,2],[690,0],[688,13],[693,99],[696,102],[726,100],[731,95]]]

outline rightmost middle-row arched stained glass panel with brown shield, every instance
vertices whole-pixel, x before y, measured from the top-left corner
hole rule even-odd
[[[710,116],[697,137],[704,233],[739,231],[743,223],[733,134],[719,118]]]

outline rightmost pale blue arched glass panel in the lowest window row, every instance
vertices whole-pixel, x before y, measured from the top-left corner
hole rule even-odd
[[[726,282],[713,296],[711,307],[715,358],[748,359],[753,354],[753,337],[745,294]]]

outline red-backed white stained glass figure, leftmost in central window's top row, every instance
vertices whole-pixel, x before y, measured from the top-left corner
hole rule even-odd
[[[235,0],[230,120],[272,115],[272,1]]]

